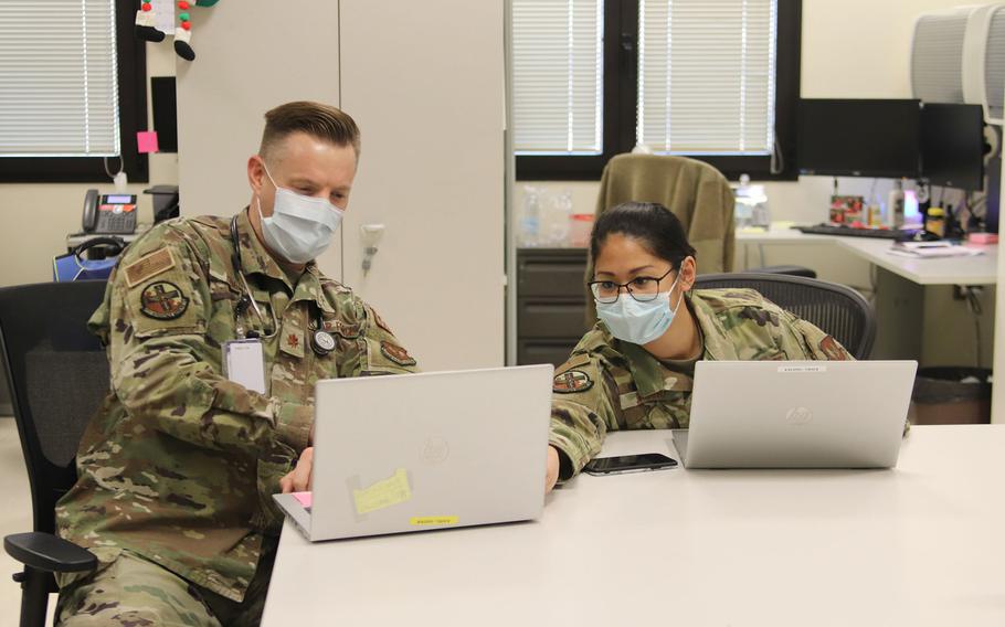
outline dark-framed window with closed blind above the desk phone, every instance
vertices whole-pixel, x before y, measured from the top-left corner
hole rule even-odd
[[[0,2],[0,181],[147,181],[146,56],[127,0]],[[120,161],[121,159],[121,161]]]

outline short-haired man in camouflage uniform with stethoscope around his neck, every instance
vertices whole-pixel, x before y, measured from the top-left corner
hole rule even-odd
[[[127,248],[91,319],[112,392],[56,519],[100,566],[61,581],[64,625],[256,625],[283,519],[272,495],[310,445],[315,382],[415,370],[371,307],[262,237],[276,185],[345,208],[355,123],[314,103],[266,120],[252,208],[235,220],[243,272],[230,219],[166,222]],[[318,323],[328,353],[313,350]],[[261,338],[264,394],[224,372],[223,343],[245,336]]]

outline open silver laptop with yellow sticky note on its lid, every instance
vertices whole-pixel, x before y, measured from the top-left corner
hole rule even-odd
[[[553,371],[318,381],[313,492],[273,498],[310,541],[539,518]]]

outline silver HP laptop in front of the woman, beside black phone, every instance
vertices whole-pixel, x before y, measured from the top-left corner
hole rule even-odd
[[[699,361],[687,468],[892,468],[916,361]]]

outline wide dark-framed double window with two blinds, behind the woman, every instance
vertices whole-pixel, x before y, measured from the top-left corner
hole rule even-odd
[[[512,4],[518,179],[599,179],[636,144],[796,177],[800,0]]]

